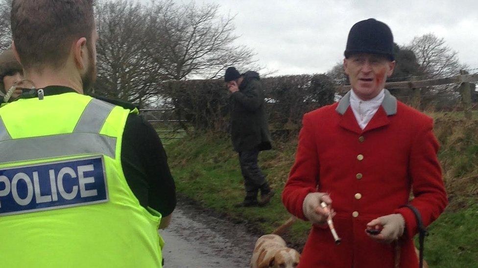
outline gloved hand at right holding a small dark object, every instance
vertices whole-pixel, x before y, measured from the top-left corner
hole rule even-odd
[[[402,214],[390,214],[377,218],[367,224],[367,229],[379,229],[382,227],[382,231],[379,234],[367,235],[381,243],[392,243],[399,239],[405,229],[405,219]]]

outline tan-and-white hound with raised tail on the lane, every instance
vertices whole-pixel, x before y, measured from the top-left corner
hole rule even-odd
[[[272,234],[261,236],[254,247],[251,268],[294,268],[299,264],[300,254],[297,250],[287,247],[286,241],[279,235],[297,220],[291,217]]]

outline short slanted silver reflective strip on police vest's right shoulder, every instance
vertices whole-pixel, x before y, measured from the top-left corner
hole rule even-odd
[[[99,133],[113,108],[115,105],[92,99],[81,114],[73,133]]]

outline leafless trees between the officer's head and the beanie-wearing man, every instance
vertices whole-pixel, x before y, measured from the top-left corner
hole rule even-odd
[[[96,16],[97,94],[147,104],[161,98],[165,81],[256,68],[252,50],[234,44],[233,17],[220,17],[217,5],[104,0]]]

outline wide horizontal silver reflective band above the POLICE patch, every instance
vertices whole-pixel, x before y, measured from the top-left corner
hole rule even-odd
[[[0,164],[82,154],[116,156],[116,138],[72,133],[0,142]]]

